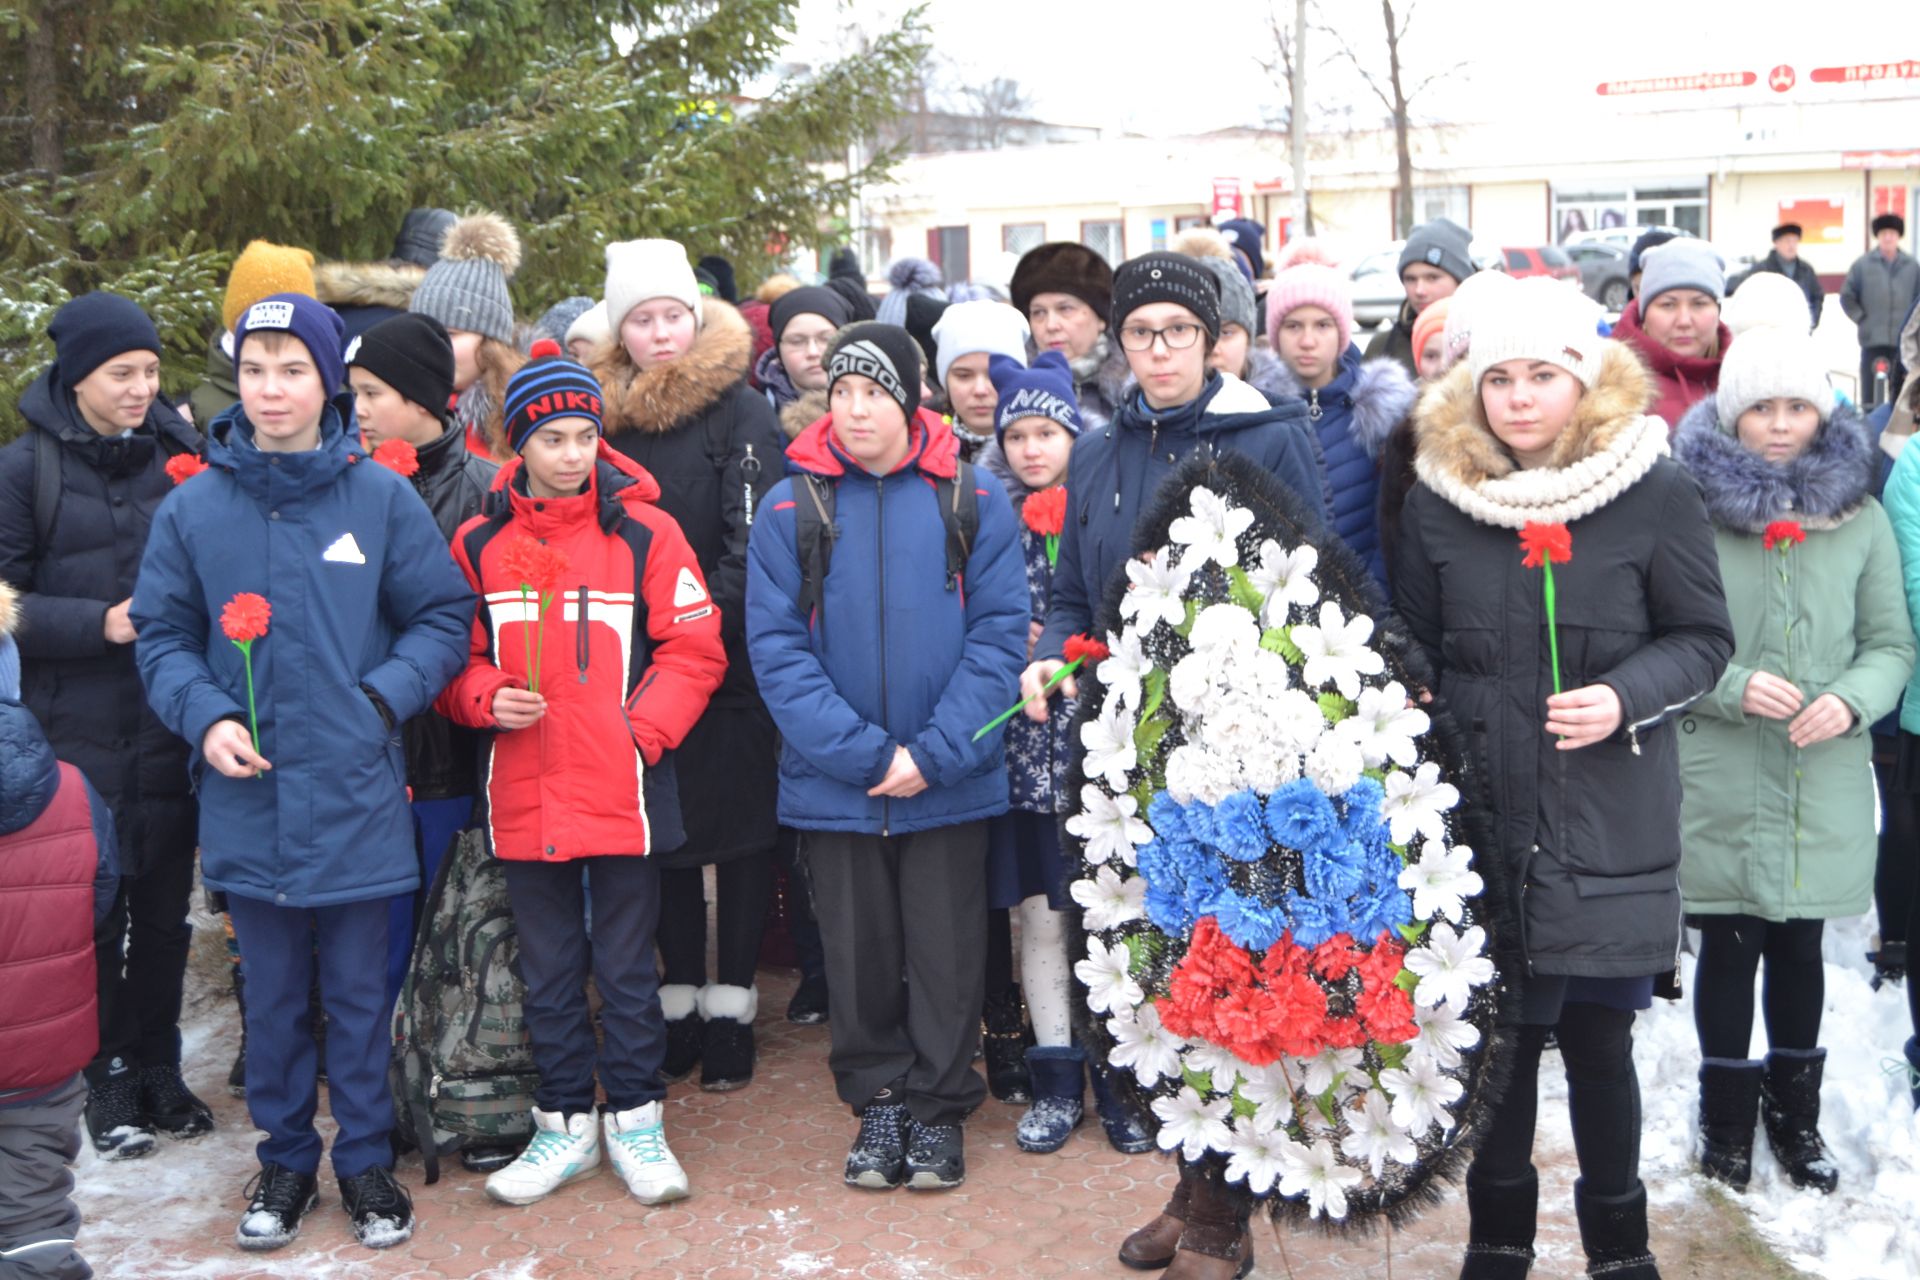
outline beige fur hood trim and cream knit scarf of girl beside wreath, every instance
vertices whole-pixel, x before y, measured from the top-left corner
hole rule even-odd
[[[1482,524],[1521,528],[1592,514],[1668,453],[1667,424],[1647,416],[1653,378],[1632,349],[1601,344],[1599,374],[1574,405],[1546,466],[1521,470],[1486,424],[1473,370],[1455,365],[1415,409],[1413,470]]]

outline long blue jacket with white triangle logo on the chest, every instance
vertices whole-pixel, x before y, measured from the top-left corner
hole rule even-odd
[[[161,503],[132,593],[148,700],[194,748],[202,873],[275,906],[419,887],[399,723],[467,666],[474,616],[432,512],[346,420],[328,405],[319,449],[263,453],[240,405],[217,416],[209,470]],[[213,722],[248,718],[246,664],[221,631],[240,591],[273,606],[253,641],[273,770],[232,779],[200,743]]]

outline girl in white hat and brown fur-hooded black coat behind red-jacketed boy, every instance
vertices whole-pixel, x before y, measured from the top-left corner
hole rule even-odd
[[[607,393],[607,443],[660,482],[660,507],[701,562],[728,674],[676,752],[687,841],[660,858],[660,1006],[668,1080],[701,1067],[701,1088],[753,1079],[753,983],[774,894],[778,837],[774,722],[745,652],[747,530],[781,478],[785,441],[766,397],[747,386],[753,330],[703,297],[674,240],[607,246],[612,342],[591,361]],[[676,599],[676,604],[682,601]],[[705,604],[687,593],[687,608]],[[718,971],[707,981],[707,890],[718,883]]]

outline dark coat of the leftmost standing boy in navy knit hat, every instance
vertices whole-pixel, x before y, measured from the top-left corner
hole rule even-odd
[[[21,702],[54,752],[77,766],[113,810],[121,871],[192,858],[188,745],[146,702],[132,645],[109,645],[106,612],[132,595],[154,510],[173,491],[167,459],[198,453],[200,436],[156,397],[131,436],[86,426],[73,391],[48,368],[19,399],[25,436],[0,449],[0,580],[19,591]],[[33,489],[36,438],[60,443],[60,507],[38,545]]]

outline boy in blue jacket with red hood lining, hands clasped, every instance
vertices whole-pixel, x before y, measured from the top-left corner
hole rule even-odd
[[[783,739],[780,821],[803,833],[829,1065],[860,1115],[845,1176],[876,1190],[966,1176],[960,1123],[987,1092],[972,1065],[985,819],[1006,812],[1000,731],[973,733],[1018,697],[1027,652],[1012,507],[918,413],[920,380],[904,328],[841,332],[829,413],[789,445],[797,474],[768,493],[747,543],[747,651]],[[960,503],[977,528],[956,557]],[[820,533],[804,555],[803,507]]]

